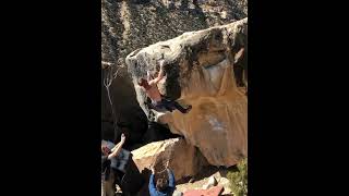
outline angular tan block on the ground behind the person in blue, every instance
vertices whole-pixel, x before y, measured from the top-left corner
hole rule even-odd
[[[173,171],[177,181],[195,175],[201,167],[207,164],[200,151],[182,138],[154,142],[133,150],[132,155],[141,172],[151,170],[153,166],[155,171],[161,172],[168,160],[168,167]]]

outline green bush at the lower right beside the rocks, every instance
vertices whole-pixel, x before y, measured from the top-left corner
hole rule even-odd
[[[230,188],[234,196],[248,195],[248,159],[241,160],[234,170],[227,174],[230,181]]]

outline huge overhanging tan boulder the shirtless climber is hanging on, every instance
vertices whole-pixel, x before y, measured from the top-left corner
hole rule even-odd
[[[143,111],[198,147],[210,164],[229,167],[248,154],[248,98],[234,73],[239,65],[246,75],[246,53],[244,19],[135,50],[127,57],[127,64]],[[163,57],[166,75],[159,90],[182,105],[192,105],[188,114],[149,111],[144,105],[146,95],[136,81],[147,72],[156,75]]]

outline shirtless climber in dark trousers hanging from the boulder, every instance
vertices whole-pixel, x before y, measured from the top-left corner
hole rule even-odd
[[[155,109],[157,111],[161,109],[166,109],[170,112],[172,112],[174,109],[179,110],[182,113],[188,113],[192,106],[189,106],[186,109],[181,107],[177,101],[166,99],[159,91],[157,84],[159,81],[164,77],[164,60],[160,60],[160,71],[158,73],[158,76],[154,79],[151,79],[149,75],[148,78],[140,78],[137,81],[139,85],[143,87],[146,95],[151,98],[152,103],[148,106],[152,109]]]

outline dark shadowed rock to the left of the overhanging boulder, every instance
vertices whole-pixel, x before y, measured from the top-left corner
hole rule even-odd
[[[127,74],[121,73],[111,83],[110,98],[117,120],[112,115],[107,89],[101,82],[101,138],[110,140],[120,139],[121,126],[124,126],[128,132],[125,146],[140,142],[143,134],[147,131],[147,120],[135,100],[135,91]],[[115,121],[118,121],[119,124],[116,130],[117,133],[115,133],[113,127]]]

